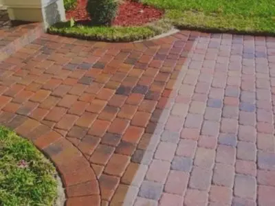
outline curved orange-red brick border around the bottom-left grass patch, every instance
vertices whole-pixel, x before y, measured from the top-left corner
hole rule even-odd
[[[89,161],[63,135],[49,126],[10,112],[0,112],[0,124],[32,141],[56,166],[66,194],[65,205],[100,205],[98,179]],[[81,175],[79,175],[81,174]]]

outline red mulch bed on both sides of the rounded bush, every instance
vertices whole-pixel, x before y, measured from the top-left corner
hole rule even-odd
[[[86,11],[87,0],[78,0],[76,9],[66,12],[67,19],[72,17],[76,21],[89,21],[89,15]],[[116,16],[113,25],[120,26],[137,26],[144,25],[151,21],[162,18],[164,12],[149,5],[142,3],[135,3],[132,1],[125,1],[118,9],[118,16]]]

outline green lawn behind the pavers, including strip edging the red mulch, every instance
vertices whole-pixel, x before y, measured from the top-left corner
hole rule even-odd
[[[165,10],[162,21],[144,27],[89,27],[58,23],[52,34],[100,41],[136,41],[179,29],[275,36],[275,1],[270,0],[142,0]],[[157,29],[156,29],[157,28]]]

